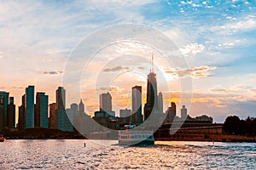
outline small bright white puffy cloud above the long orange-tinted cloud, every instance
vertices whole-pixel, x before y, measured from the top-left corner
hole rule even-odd
[[[198,53],[202,53],[204,49],[205,46],[199,43],[190,43],[188,45],[183,46],[182,48],[179,48],[179,50],[182,52],[184,56],[191,56]]]

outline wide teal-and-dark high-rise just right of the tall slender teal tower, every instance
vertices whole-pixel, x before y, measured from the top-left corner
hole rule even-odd
[[[38,92],[35,106],[35,127],[48,127],[48,95]]]

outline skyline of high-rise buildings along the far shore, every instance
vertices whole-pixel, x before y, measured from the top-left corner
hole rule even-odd
[[[164,113],[163,95],[162,93],[158,94],[156,74],[153,68],[148,74],[147,101],[144,107],[142,107],[142,86],[132,87],[131,93],[131,110],[120,110],[119,117],[115,116],[115,112],[113,111],[111,94],[101,94],[99,111],[95,111],[92,119],[103,127],[114,129],[119,129],[120,126],[125,124],[138,126],[143,122],[147,122],[149,126],[154,125],[160,127],[163,122],[164,124],[170,124],[174,121],[201,121],[200,119],[211,119],[211,117],[206,116],[189,117],[184,105],[181,109],[181,117],[177,117],[177,109],[174,102],[171,103],[171,107]],[[79,105],[72,104],[70,108],[66,108],[66,90],[63,87],[57,88],[56,100],[53,104],[49,104],[49,96],[45,93],[38,92],[36,94],[36,102],[34,96],[34,86],[28,86],[25,94],[22,96],[22,102],[19,107],[19,122],[17,127],[20,130],[33,127],[49,127],[62,131],[73,131],[73,124],[80,124],[79,127],[84,127],[84,123],[90,124],[91,122],[91,119],[87,119],[88,117],[84,118],[87,115],[84,114],[82,100]],[[87,122],[84,121],[85,119]],[[9,98],[9,93],[6,92],[0,92],[0,121],[0,130],[3,127],[15,127],[14,98]]]

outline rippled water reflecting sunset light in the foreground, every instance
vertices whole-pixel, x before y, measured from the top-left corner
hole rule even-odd
[[[39,168],[256,169],[256,144],[156,142],[149,147],[122,147],[89,140],[7,140],[0,143],[0,169]]]

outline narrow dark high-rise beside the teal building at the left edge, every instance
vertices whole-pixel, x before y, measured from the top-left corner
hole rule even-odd
[[[15,128],[15,98],[9,98],[9,105],[7,108],[7,127]]]

